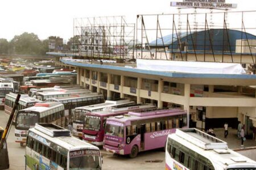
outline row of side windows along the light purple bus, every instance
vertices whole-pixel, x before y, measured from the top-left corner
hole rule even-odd
[[[168,118],[168,119],[167,119]],[[166,120],[164,120],[166,119]],[[145,133],[166,130],[166,129],[173,129],[173,128],[182,128],[187,125],[187,117],[184,116],[174,116],[174,117],[161,117],[159,119],[154,119],[154,121],[147,120],[145,125],[145,129],[143,130],[141,127],[142,124],[139,125],[131,125],[126,126],[126,135],[135,135],[141,133],[142,130]]]

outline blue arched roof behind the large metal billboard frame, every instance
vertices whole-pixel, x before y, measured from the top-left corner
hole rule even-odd
[[[173,35],[174,43],[172,43],[172,35],[167,35],[162,39],[157,39],[150,42],[150,45],[155,46],[156,41],[158,46],[168,46],[169,49],[179,49],[177,36],[174,32]],[[237,40],[256,40],[256,36],[250,33],[234,30],[234,29],[209,29],[207,31],[197,31],[197,32],[182,32],[180,41],[181,43],[188,43],[188,50],[207,50],[215,52],[236,52],[236,41]],[[192,41],[193,40],[193,41]],[[212,41],[212,47],[210,45]],[[192,43],[193,42],[193,43]],[[229,46],[230,45],[230,46]]]

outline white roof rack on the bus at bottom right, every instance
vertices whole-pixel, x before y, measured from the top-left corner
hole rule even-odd
[[[204,150],[228,148],[228,144],[225,141],[222,141],[195,128],[176,129],[176,135],[185,139],[186,141],[193,143],[193,145],[203,148]]]

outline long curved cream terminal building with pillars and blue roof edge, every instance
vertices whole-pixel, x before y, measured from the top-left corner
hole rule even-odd
[[[76,69],[77,83],[101,92],[105,99],[128,97],[158,108],[184,109],[191,127],[208,130],[228,122],[237,128],[241,121],[248,136],[256,127],[256,75],[144,70],[134,63],[100,64],[59,57],[56,65]]]

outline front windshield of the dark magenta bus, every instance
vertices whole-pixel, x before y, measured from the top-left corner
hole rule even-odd
[[[101,117],[86,115],[84,129],[86,130],[100,130],[101,128]]]

